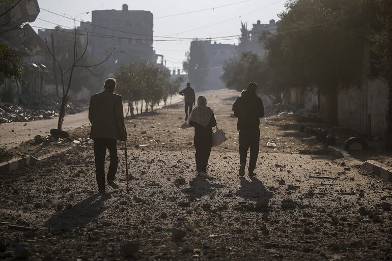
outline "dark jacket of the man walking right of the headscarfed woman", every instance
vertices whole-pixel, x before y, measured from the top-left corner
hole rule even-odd
[[[238,118],[237,130],[259,128],[264,117],[263,101],[253,92],[243,91],[233,104],[234,116]]]

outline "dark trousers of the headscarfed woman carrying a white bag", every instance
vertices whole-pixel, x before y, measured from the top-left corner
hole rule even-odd
[[[211,153],[212,136],[194,135],[193,142],[194,148],[196,149],[196,153],[194,154],[196,158],[196,170],[198,172],[206,172]]]

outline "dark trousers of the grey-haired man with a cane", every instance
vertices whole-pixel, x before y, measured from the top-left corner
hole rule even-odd
[[[106,149],[109,151],[110,165],[107,171],[107,180],[113,181],[119,166],[117,156],[117,140],[106,138],[94,138],[95,171],[99,189],[105,189],[105,156]]]

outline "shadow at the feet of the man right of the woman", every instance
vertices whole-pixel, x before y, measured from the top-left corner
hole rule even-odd
[[[264,184],[256,177],[249,177],[250,181],[245,178],[240,179],[241,187],[236,192],[236,195],[243,199],[252,201],[262,201],[270,199],[273,193],[265,189]]]

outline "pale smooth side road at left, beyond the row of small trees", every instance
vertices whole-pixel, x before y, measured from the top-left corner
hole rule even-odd
[[[182,96],[175,96],[172,103],[179,102],[183,99]],[[161,102],[158,108],[163,106]],[[128,110],[128,104],[124,103],[124,115]],[[136,113],[136,109],[134,109]],[[64,120],[63,129],[65,131],[73,130],[81,126],[89,126],[88,119],[89,112],[83,111],[76,114],[66,115]],[[32,121],[32,122],[12,122],[0,124],[0,146],[7,149],[18,146],[21,142],[34,138],[36,135],[46,136],[49,134],[50,129],[57,128],[58,119]]]

